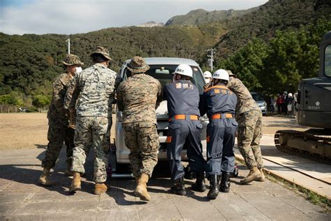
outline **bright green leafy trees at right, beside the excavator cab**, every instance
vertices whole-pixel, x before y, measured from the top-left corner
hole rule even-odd
[[[217,66],[230,69],[249,90],[295,92],[302,78],[318,76],[319,44],[331,22],[317,20],[299,29],[276,31],[268,43],[255,38]]]

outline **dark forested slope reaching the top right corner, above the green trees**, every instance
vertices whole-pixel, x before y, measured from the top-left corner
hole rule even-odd
[[[321,17],[331,20],[330,0],[270,0],[252,13],[223,23],[228,33],[216,45],[216,57],[232,55],[251,38],[268,41],[277,30],[297,29]]]

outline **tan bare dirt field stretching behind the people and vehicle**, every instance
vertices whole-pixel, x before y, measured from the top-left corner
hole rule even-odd
[[[46,113],[0,114],[0,150],[21,148],[45,148],[47,146]],[[274,134],[279,129],[305,130],[293,117],[263,117],[263,134]],[[113,115],[112,138],[115,135]]]

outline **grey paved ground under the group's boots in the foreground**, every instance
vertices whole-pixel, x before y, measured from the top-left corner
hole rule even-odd
[[[238,185],[247,174],[233,179],[231,191],[214,201],[207,192],[192,192],[186,197],[168,192],[169,178],[149,182],[152,201],[134,197],[134,180],[112,179],[106,194],[92,194],[93,183],[84,179],[82,191],[68,193],[71,178],[63,176],[64,151],[52,173],[54,187],[36,185],[41,174],[45,149],[0,151],[0,220],[331,220],[330,213],[315,206],[278,183]],[[90,157],[91,158],[91,157]],[[91,159],[87,178],[91,176]],[[189,188],[191,180],[186,180]]]

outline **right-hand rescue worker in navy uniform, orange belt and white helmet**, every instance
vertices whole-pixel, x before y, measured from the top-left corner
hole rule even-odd
[[[203,93],[200,99],[200,115],[209,118],[207,125],[207,165],[206,173],[210,182],[209,199],[216,199],[221,192],[230,191],[230,173],[235,168],[235,106],[237,96],[226,87],[229,80],[228,72],[219,69],[214,72],[213,86]],[[221,176],[221,187],[219,177]]]

